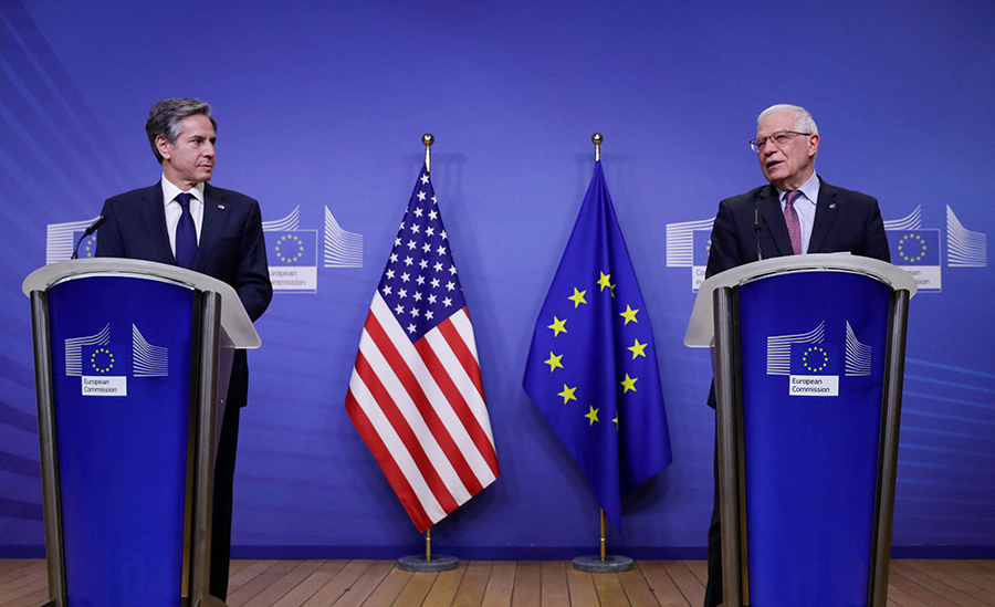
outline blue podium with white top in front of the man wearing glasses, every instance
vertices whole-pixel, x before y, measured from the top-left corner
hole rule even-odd
[[[914,279],[848,253],[706,280],[726,607],[884,607]]]

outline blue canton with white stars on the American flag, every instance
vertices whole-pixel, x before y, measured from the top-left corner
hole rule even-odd
[[[411,343],[467,305],[425,166],[377,290]]]

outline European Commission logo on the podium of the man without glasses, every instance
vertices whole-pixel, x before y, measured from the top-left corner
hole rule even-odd
[[[130,360],[128,359],[130,355]],[[65,375],[78,377],[83,396],[127,396],[130,377],[169,377],[169,352],[149,344],[132,324],[132,348],[111,343],[111,324],[65,341]]]

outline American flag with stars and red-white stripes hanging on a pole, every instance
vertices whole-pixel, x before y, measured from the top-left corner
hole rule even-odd
[[[473,325],[427,167],[363,327],[346,410],[420,532],[498,478]]]

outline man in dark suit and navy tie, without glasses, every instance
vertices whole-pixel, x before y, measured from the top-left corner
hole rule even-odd
[[[170,263],[230,284],[254,322],[273,296],[259,203],[207,184],[214,169],[217,122],[211,107],[191,100],[153,106],[148,140],[163,178],[156,185],[107,199],[97,257]],[[245,350],[235,353],[214,465],[211,595],[228,595],[231,496],[239,410],[248,400]]]

